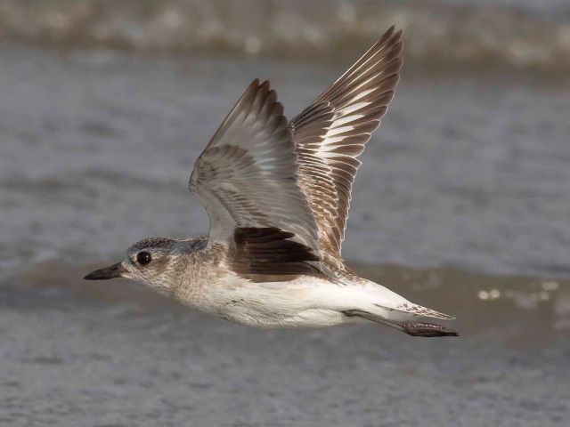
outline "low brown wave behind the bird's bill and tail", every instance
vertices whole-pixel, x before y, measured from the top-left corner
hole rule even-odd
[[[74,306],[123,306],[141,314],[195,313],[178,302],[155,294],[150,288],[130,280],[89,282],[86,271],[102,264],[71,266],[45,262],[33,270],[4,280],[2,299],[12,308],[66,308]],[[532,276],[496,276],[451,268],[416,269],[403,266],[349,262],[362,277],[403,294],[413,302],[436,308],[456,318],[463,334],[482,333],[493,327],[512,327],[525,335],[525,327],[541,335],[544,328],[570,332],[570,280]],[[41,302],[40,302],[41,301]],[[526,326],[525,326],[526,325]],[[540,326],[538,329],[537,327]],[[542,332],[541,332],[542,328]],[[512,332],[512,331],[511,331]],[[532,342],[538,335],[526,331],[517,340]]]

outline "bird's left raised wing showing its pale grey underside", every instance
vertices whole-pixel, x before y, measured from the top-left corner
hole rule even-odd
[[[273,246],[297,252],[303,251],[282,240],[305,246],[305,255],[290,262],[318,261],[317,227],[297,183],[297,154],[276,99],[269,82],[259,85],[254,80],[196,160],[189,186],[208,211],[208,245],[235,248],[244,243],[243,230],[248,236],[256,236],[255,229],[262,229],[262,234],[276,230]],[[259,252],[259,246],[255,250]],[[255,261],[255,254],[250,257]]]

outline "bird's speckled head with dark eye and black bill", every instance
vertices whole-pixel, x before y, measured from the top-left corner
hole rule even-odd
[[[181,261],[183,242],[175,238],[144,238],[126,250],[122,262],[94,270],[85,279],[131,278],[159,292],[168,292],[179,277],[176,265]]]

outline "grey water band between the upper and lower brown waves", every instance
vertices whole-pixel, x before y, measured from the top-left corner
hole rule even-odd
[[[253,77],[292,117],[341,71],[267,60],[0,53],[3,273],[206,233],[194,159]],[[344,65],[342,66],[344,67]],[[570,84],[404,75],[354,187],[348,260],[570,272]]]

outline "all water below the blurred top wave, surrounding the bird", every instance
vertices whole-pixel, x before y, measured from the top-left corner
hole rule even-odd
[[[455,315],[459,339],[259,331],[81,281],[145,236],[207,232],[191,165],[253,77],[271,78],[292,117],[349,62],[4,44],[1,424],[567,424],[564,76],[411,60],[362,156],[346,258]],[[390,262],[405,267],[378,267]]]

